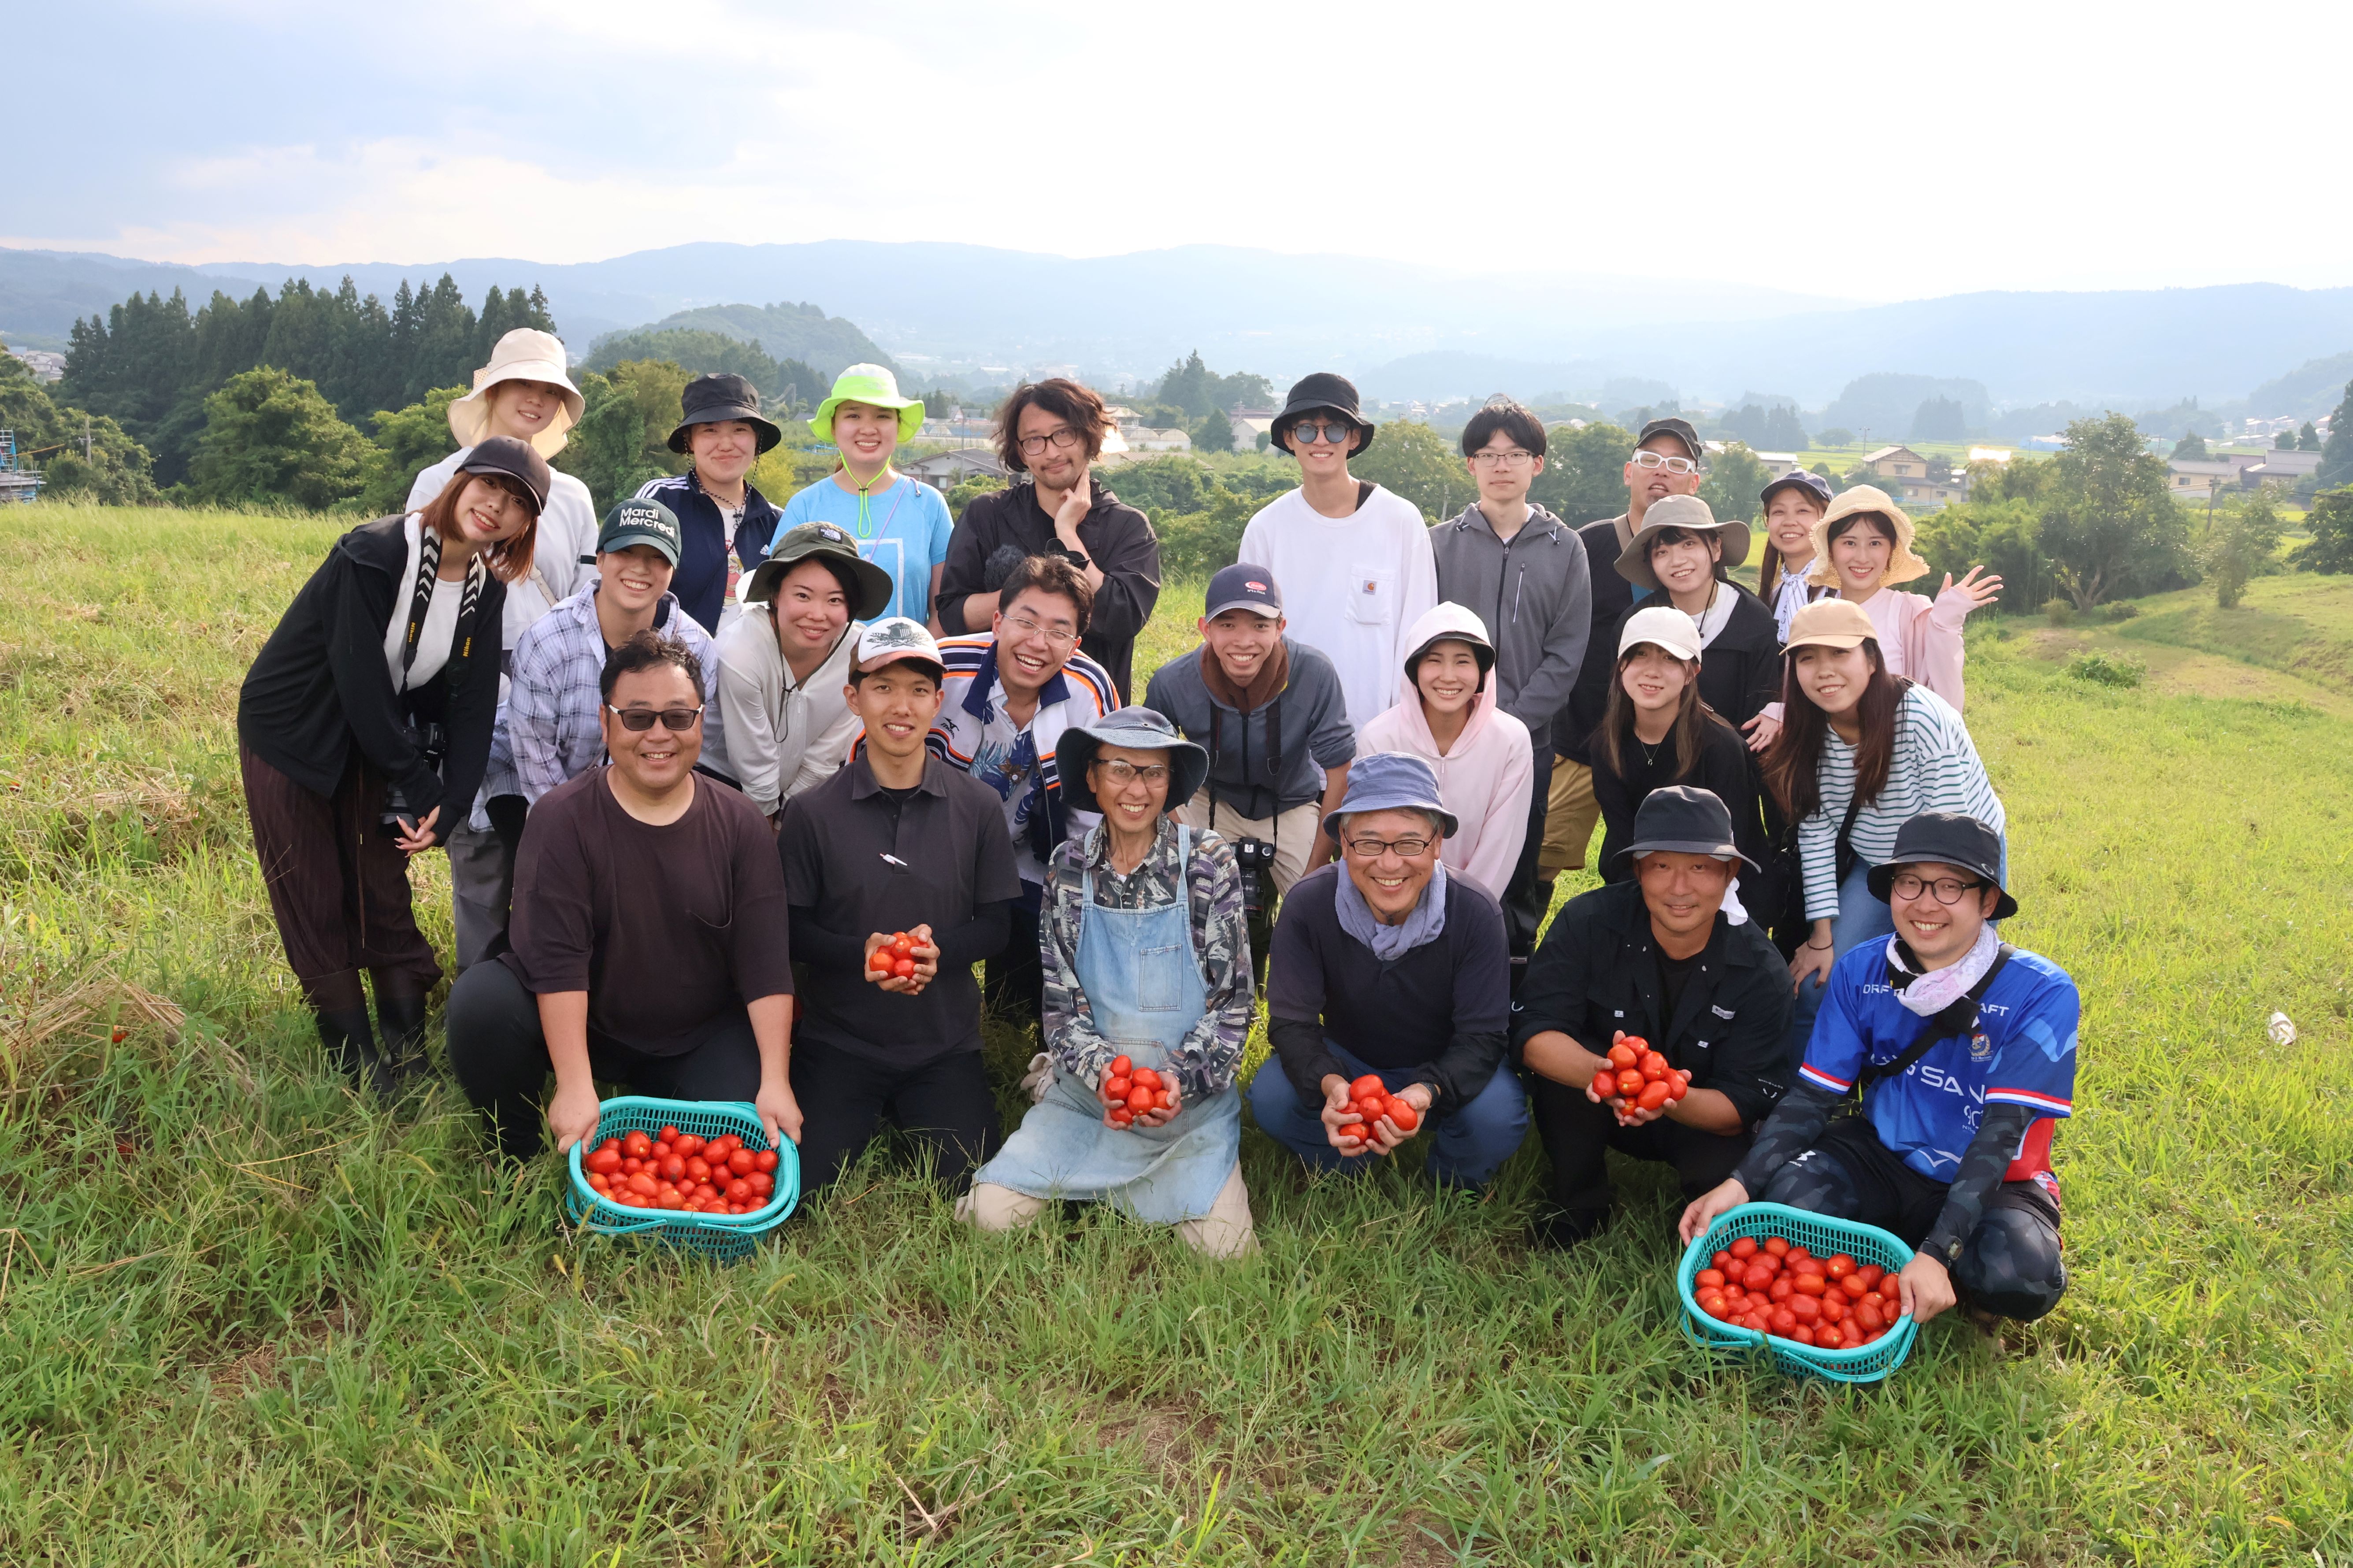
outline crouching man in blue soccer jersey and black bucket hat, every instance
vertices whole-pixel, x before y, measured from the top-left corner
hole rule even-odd
[[[1753,1197],[1894,1232],[1918,1248],[1904,1312],[1955,1300],[1979,1326],[2059,1305],[2052,1126],[2075,1103],[2075,983],[2002,943],[2017,912],[2002,842],[1972,816],[1922,811],[1871,891],[1897,933],[1838,959],[1798,1086],[1732,1178],[1682,1211],[1682,1239]],[[1859,1091],[1864,1114],[1831,1119]]]

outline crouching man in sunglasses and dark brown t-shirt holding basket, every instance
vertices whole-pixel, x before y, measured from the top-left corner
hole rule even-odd
[[[449,990],[449,1070],[513,1159],[541,1150],[551,1070],[558,1152],[595,1133],[598,1079],[751,1100],[772,1140],[800,1140],[784,867],[760,809],[696,778],[706,701],[685,642],[640,630],[612,651],[609,762],[532,809],[513,947]]]

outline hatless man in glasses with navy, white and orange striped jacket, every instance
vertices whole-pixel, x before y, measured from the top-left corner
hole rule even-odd
[[[1012,940],[988,959],[988,1006],[1016,1023],[1038,1023],[1045,867],[1071,830],[1054,748],[1073,724],[1094,724],[1115,710],[1120,693],[1111,670],[1078,651],[1094,590],[1075,564],[1059,555],[1024,557],[1005,576],[998,604],[988,632],[939,644],[948,675],[927,743],[941,762],[972,773],[1005,802],[1021,903]],[[1094,813],[1078,818],[1094,825]]]

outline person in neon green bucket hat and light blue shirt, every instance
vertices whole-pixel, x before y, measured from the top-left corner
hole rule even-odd
[[[892,602],[882,616],[922,621],[939,635],[932,599],[955,520],[946,496],[892,468],[899,444],[922,433],[922,400],[901,397],[899,376],[887,364],[852,364],[833,378],[833,393],[816,404],[809,430],[833,442],[842,458],[831,475],[786,501],[779,538],[807,522],[842,529],[864,559],[889,574]]]

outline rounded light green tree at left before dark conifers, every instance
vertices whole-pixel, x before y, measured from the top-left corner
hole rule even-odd
[[[264,364],[205,400],[188,496],[322,512],[367,484],[372,456],[369,440],[336,416],[318,383]]]

